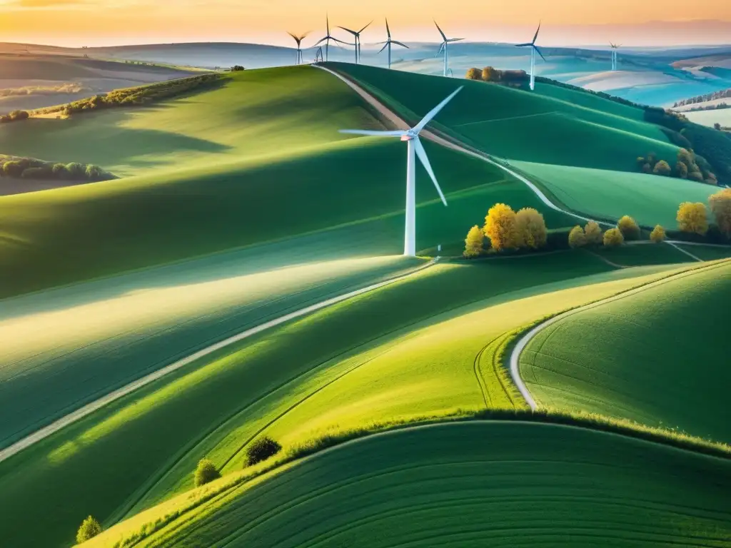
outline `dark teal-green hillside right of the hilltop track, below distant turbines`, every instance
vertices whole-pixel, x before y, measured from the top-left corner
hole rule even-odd
[[[565,96],[564,100],[540,91],[531,93],[472,80],[365,65],[328,66],[363,83],[414,123],[463,85],[461,93],[439,114],[436,127],[446,127],[494,156],[618,171],[635,171],[637,156],[643,151],[654,151],[673,164],[677,156],[678,148],[658,126],[637,119],[634,111],[638,109],[607,99],[595,97],[589,107],[568,96],[568,90],[558,94]]]

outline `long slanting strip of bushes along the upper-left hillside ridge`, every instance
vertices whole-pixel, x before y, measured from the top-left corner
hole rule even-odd
[[[61,113],[70,116],[91,110],[143,105],[162,99],[170,99],[170,97],[185,94],[197,88],[217,85],[221,82],[221,78],[222,75],[209,74],[168,80],[167,82],[143,85],[137,88],[117,89],[110,91],[108,94],[94,95],[58,107],[39,109],[37,112],[42,114]]]

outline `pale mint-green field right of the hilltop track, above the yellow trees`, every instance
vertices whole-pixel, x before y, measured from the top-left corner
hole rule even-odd
[[[708,202],[714,186],[684,179],[590,170],[579,167],[511,162],[545,186],[570,210],[589,218],[618,219],[629,215],[644,227],[677,227],[682,202]]]

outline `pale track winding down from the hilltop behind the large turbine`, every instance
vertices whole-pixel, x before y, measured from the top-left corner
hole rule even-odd
[[[339,72],[336,72],[331,69],[327,69],[325,66],[320,65],[314,65],[320,70],[324,70],[325,72],[329,72],[331,75],[339,78],[342,80],[346,85],[349,85],[350,88],[352,88],[353,91],[355,91],[358,95],[363,97],[363,99],[368,102],[368,104],[371,105],[371,107],[374,107],[376,111],[383,115],[384,118],[387,119],[390,123],[393,123],[397,129],[407,129],[409,127],[409,124],[406,123],[402,118],[398,116],[398,114],[394,113],[393,110],[390,110],[385,104],[380,102],[376,97],[369,94],[368,91],[364,90],[360,85],[358,85],[355,81],[349,79],[348,77],[342,75]],[[564,209],[561,209],[558,207],[558,205],[554,204],[553,202],[548,199],[548,197],[543,193],[541,189],[539,189],[531,180],[526,178],[523,175],[520,175],[520,173],[516,172],[515,170],[512,170],[507,165],[503,164],[500,161],[494,160],[491,156],[485,153],[477,152],[471,150],[471,148],[467,148],[466,145],[464,145],[461,142],[452,142],[451,140],[447,140],[441,135],[438,135],[431,131],[430,129],[423,129],[423,131],[420,134],[422,137],[425,137],[425,139],[430,140],[431,142],[436,143],[437,145],[442,145],[443,147],[450,148],[452,151],[458,151],[463,154],[466,154],[467,156],[472,156],[473,158],[480,159],[482,161],[488,162],[488,164],[491,164],[495,167],[499,167],[504,172],[507,172],[509,175],[512,175],[512,177],[518,179],[521,183],[524,183],[526,186],[528,186],[531,191],[534,192],[534,194],[538,197],[538,199],[543,202],[548,208],[551,208],[554,211],[558,211],[558,213],[564,213],[564,215],[572,216],[575,218],[578,218],[582,221],[594,221],[592,218],[581,216],[577,213],[574,213],[573,211],[567,211]],[[609,226],[609,223],[603,222],[603,221],[596,221],[599,224],[605,224]]]

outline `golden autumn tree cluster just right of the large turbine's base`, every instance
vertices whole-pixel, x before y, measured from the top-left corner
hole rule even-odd
[[[488,210],[484,226],[469,229],[463,255],[468,259],[484,255],[485,238],[493,251],[535,250],[546,245],[548,229],[543,216],[533,208],[516,213],[510,205],[496,204]]]

